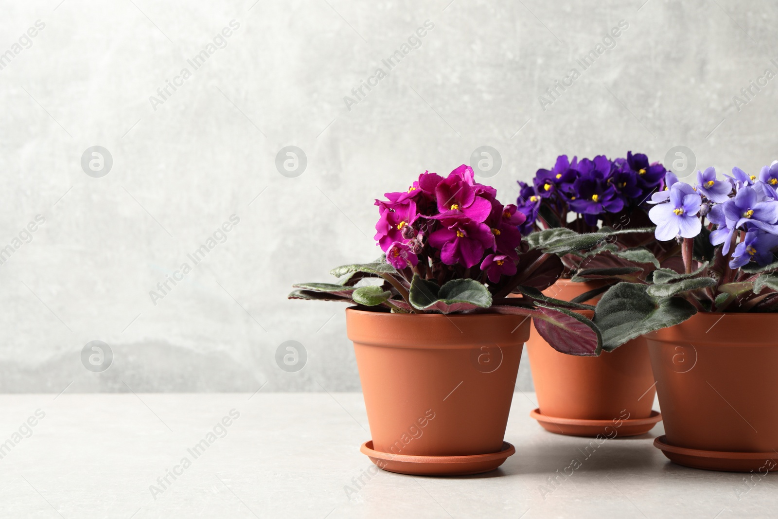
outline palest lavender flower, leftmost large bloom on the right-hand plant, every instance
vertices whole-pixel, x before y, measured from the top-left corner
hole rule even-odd
[[[672,240],[679,234],[684,238],[696,237],[703,229],[703,223],[697,216],[702,203],[702,197],[689,184],[673,184],[670,202],[654,205],[648,212],[651,221],[657,224],[654,233],[657,240]]]

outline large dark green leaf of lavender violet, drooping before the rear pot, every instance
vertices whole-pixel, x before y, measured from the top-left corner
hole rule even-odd
[[[649,331],[682,323],[697,313],[682,297],[654,298],[649,286],[622,282],[608,289],[594,310],[602,347],[611,352]]]

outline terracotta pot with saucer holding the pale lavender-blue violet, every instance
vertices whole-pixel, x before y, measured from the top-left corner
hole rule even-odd
[[[664,415],[654,442],[694,468],[778,467],[774,314],[699,313],[645,335]]]

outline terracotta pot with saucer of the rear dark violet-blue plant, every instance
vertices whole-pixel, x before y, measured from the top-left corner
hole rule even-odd
[[[602,286],[598,282],[560,279],[543,293],[561,300]],[[594,304],[595,297],[587,304]],[[580,310],[592,317],[591,310]],[[534,419],[552,433],[574,436],[634,436],[661,420],[654,404],[654,375],[643,338],[636,338],[597,357],[560,353],[545,342],[534,325],[527,340],[532,380],[539,409]]]

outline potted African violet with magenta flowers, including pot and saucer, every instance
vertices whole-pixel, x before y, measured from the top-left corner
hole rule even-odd
[[[514,452],[503,440],[534,317],[557,348],[597,355],[599,331],[541,290],[562,261],[517,251],[524,215],[473,170],[424,173],[377,200],[377,261],[335,268],[338,284],[302,283],[293,299],[340,300],[354,343],[372,439],[362,451],[407,474],[473,474]],[[520,297],[507,296],[518,291]]]

